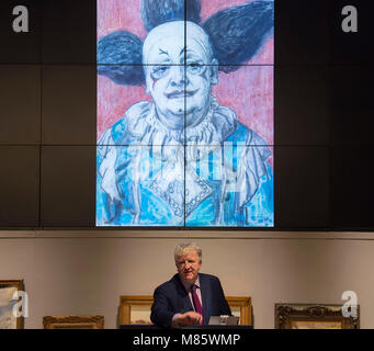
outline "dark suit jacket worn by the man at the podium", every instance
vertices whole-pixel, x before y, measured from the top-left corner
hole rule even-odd
[[[211,316],[231,315],[219,279],[203,273],[199,274],[199,279],[203,303],[203,325],[209,322]],[[193,307],[178,273],[155,290],[150,314],[150,320],[155,325],[169,328],[175,314],[183,314],[188,310],[193,310]]]

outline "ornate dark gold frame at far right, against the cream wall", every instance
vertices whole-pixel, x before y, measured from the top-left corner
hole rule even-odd
[[[344,317],[341,305],[275,304],[275,329],[360,329],[360,306]]]

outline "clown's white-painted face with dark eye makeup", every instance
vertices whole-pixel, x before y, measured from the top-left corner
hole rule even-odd
[[[170,33],[150,46],[145,63],[149,65],[145,68],[147,92],[161,121],[174,129],[200,122],[209,107],[212,84],[217,82],[217,66],[205,66],[217,61],[186,33],[186,48],[184,32]]]

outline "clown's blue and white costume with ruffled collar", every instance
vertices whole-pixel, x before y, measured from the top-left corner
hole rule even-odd
[[[214,98],[196,126],[167,129],[141,101],[98,145],[98,226],[273,226],[265,141]]]

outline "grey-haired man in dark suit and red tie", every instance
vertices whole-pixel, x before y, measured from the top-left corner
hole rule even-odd
[[[150,319],[160,327],[207,325],[211,316],[231,315],[219,279],[199,273],[202,250],[195,242],[177,246],[178,273],[155,290]]]

